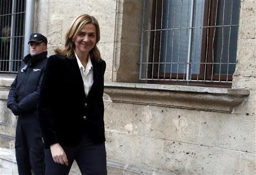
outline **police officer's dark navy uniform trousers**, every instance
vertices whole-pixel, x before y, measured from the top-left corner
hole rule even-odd
[[[19,175],[45,173],[44,148],[36,116],[18,117],[15,138]]]

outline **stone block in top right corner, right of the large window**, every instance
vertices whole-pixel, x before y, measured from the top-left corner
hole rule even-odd
[[[255,39],[256,37],[256,3],[241,1],[238,39]]]

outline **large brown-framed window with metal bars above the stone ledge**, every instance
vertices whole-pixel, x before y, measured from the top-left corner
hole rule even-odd
[[[240,1],[144,1],[140,79],[232,83]]]

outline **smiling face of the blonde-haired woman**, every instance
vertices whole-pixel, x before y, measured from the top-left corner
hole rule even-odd
[[[78,54],[88,54],[96,45],[96,28],[93,24],[86,24],[77,33],[73,42],[76,45],[75,51]]]

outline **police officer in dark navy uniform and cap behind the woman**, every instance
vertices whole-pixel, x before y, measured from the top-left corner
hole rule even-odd
[[[47,38],[40,33],[30,36],[30,54],[11,84],[7,107],[18,116],[15,152],[20,175],[45,173],[44,150],[36,106],[47,62]]]

